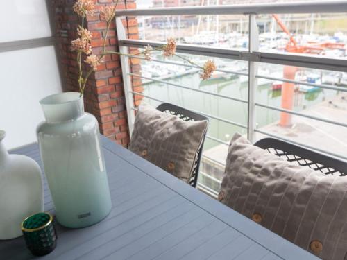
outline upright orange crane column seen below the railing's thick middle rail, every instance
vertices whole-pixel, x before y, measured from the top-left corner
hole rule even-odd
[[[297,67],[285,66],[283,69],[283,78],[288,80],[295,80]],[[281,107],[286,110],[293,110],[294,104],[294,84],[283,83],[282,85],[282,102]],[[281,112],[280,126],[288,127],[291,125],[291,114]]]

